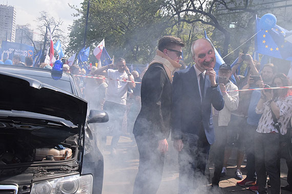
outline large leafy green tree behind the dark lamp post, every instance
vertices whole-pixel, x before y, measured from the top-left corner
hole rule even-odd
[[[90,4],[87,46],[95,47],[103,38],[106,48],[127,61],[145,63],[153,55],[157,40],[169,24],[161,11],[162,0],[93,0]],[[72,8],[76,9],[76,7]],[[82,47],[87,1],[82,3],[71,26],[69,47]]]

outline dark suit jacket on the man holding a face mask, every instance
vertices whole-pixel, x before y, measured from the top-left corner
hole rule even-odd
[[[175,72],[172,93],[172,138],[182,139],[185,134],[199,135],[203,125],[208,142],[214,143],[211,107],[213,105],[216,110],[224,107],[219,86],[212,88],[209,76],[206,75],[201,103],[196,71],[191,67]]]

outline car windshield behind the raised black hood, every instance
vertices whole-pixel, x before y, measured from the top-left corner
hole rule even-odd
[[[34,76],[34,75],[23,75],[23,76],[38,80],[44,84],[48,84],[48,85],[54,86],[56,88],[59,88],[59,89],[65,90],[67,92],[75,94],[75,92],[72,91],[71,84],[69,81],[54,80],[53,78],[39,77],[39,76]]]

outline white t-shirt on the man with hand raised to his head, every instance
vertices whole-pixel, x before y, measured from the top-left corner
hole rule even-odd
[[[128,80],[126,72],[108,69],[109,86],[106,95],[106,101],[126,105],[128,82],[117,80]],[[134,79],[134,78],[133,78]]]

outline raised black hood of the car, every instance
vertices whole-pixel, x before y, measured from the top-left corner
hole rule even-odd
[[[47,114],[85,124],[87,102],[37,80],[0,71],[0,109]]]

